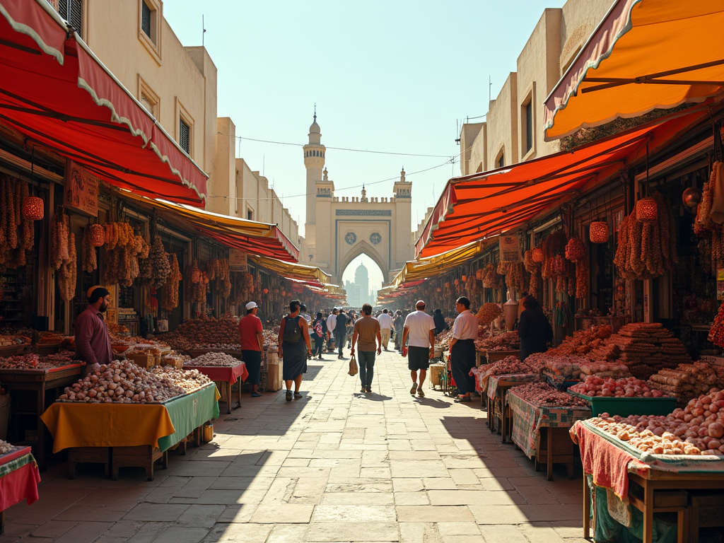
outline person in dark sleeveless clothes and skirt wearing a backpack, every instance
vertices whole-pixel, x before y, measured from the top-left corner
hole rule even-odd
[[[302,397],[299,387],[302,374],[307,369],[307,355],[311,355],[312,345],[309,337],[309,325],[299,314],[299,300],[289,304],[290,313],[282,319],[279,327],[279,356],[284,361],[282,378],[287,385],[287,402],[292,401],[292,381],[295,384],[294,397]]]

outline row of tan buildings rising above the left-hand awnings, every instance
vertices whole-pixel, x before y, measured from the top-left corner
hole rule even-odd
[[[298,247],[297,222],[266,177],[235,156],[231,119],[216,117],[216,65],[186,47],[164,19],[161,0],[51,0],[130,93],[209,174],[206,209],[278,224]]]

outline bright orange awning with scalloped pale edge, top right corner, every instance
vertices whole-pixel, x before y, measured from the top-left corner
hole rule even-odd
[[[546,99],[546,140],[724,92],[722,0],[618,0]]]

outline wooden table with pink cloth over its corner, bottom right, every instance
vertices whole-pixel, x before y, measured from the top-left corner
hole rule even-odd
[[[649,455],[617,437],[596,428],[589,421],[578,421],[571,437],[581,448],[584,473],[596,486],[610,488],[619,499],[644,515],[643,542],[652,543],[654,513],[677,513],[678,543],[699,541],[699,526],[724,529],[721,503],[724,502],[724,460],[716,456]],[[607,475],[604,475],[607,473]],[[636,492],[631,482],[642,489]],[[702,497],[697,491],[715,491],[718,505],[700,518]],[[711,497],[707,497],[711,500]],[[584,537],[590,535],[591,488],[584,476]],[[703,521],[703,522],[702,522]]]

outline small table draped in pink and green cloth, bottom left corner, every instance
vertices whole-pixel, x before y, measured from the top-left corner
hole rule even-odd
[[[22,500],[28,500],[28,505],[37,501],[40,481],[30,447],[17,447],[0,456],[0,536],[5,533],[5,510]]]

